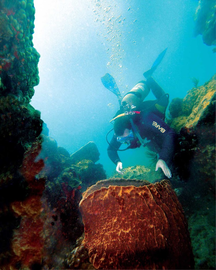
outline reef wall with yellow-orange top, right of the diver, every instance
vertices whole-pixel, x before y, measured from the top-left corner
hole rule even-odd
[[[169,106],[178,135],[172,184],[188,217],[195,269],[215,268],[215,93],[216,75]]]

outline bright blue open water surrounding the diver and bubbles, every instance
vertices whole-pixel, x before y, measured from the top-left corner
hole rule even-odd
[[[49,136],[70,153],[93,140],[109,176],[115,165],[105,136],[119,103],[100,77],[109,72],[126,93],[168,47],[153,77],[171,101],[193,87],[191,77],[202,85],[213,76],[215,54],[194,37],[195,0],[54,2],[34,0],[33,44],[41,57],[31,105],[41,111]],[[120,158],[125,167],[148,162],[141,148]]]

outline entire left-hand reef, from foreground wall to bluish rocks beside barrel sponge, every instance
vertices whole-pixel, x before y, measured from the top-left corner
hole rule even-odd
[[[0,1],[0,268],[65,269],[82,235],[82,191],[106,179],[97,146],[70,155],[42,133],[33,0]]]

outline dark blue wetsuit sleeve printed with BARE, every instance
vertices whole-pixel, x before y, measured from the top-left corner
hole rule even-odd
[[[155,142],[159,145],[159,159],[170,163],[174,155],[175,132],[157,115],[150,113],[146,119],[150,128],[151,137],[155,137]],[[145,121],[144,121],[145,125]]]

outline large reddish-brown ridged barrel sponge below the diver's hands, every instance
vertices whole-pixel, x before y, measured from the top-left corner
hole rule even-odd
[[[80,211],[96,269],[194,268],[187,220],[168,181],[99,181],[83,193]]]

